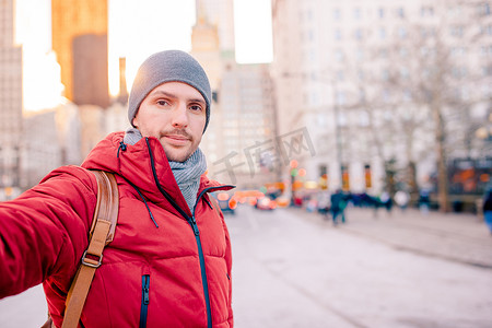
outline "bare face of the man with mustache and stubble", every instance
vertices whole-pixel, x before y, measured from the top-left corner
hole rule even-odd
[[[143,137],[161,141],[167,160],[184,162],[197,150],[206,120],[207,103],[195,87],[166,82],[142,101],[133,126]]]

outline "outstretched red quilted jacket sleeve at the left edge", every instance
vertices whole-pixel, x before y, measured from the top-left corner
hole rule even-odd
[[[92,173],[66,166],[0,203],[0,298],[50,277],[69,285],[87,246],[96,190]]]

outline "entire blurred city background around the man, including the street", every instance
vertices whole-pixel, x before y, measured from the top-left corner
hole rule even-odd
[[[127,129],[138,66],[181,49],[237,186],[236,327],[491,327],[491,5],[0,0],[0,201]],[[45,317],[40,286],[0,302],[1,327]]]

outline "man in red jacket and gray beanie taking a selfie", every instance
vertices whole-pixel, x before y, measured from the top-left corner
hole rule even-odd
[[[97,196],[86,168],[103,169],[118,183],[118,224],[81,326],[232,327],[231,244],[208,195],[232,186],[204,176],[198,148],[210,105],[207,74],[191,56],[149,57],[130,92],[133,128],[106,137],[82,167],[60,167],[0,204],[0,297],[43,282],[61,326]]]

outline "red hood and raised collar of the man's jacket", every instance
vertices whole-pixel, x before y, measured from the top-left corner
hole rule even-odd
[[[116,173],[133,184],[152,202],[166,202],[157,187],[159,181],[176,203],[191,215],[161,142],[150,137],[142,138],[136,144],[125,144],[124,137],[122,131],[108,134],[90,152],[82,167]],[[198,195],[232,188],[233,186],[222,185],[202,175]]]

